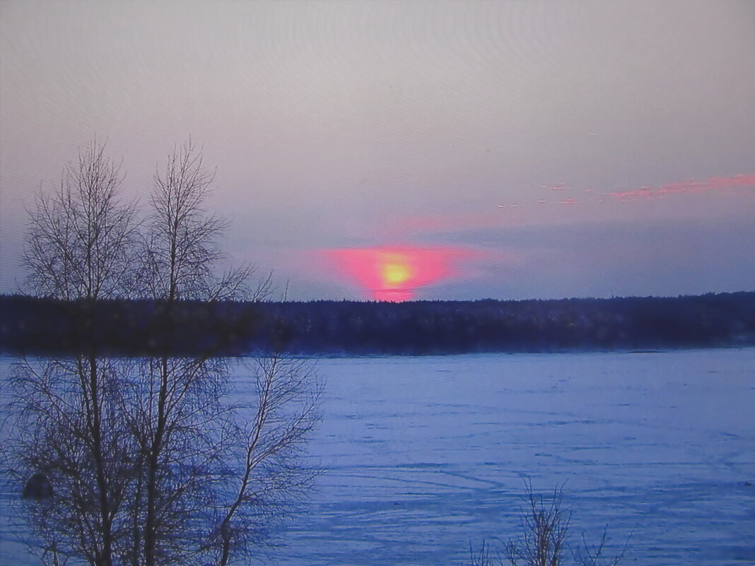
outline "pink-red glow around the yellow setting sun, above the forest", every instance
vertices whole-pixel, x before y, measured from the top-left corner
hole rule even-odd
[[[417,288],[455,275],[455,260],[467,257],[460,248],[350,248],[325,251],[338,269],[374,300],[414,298]]]

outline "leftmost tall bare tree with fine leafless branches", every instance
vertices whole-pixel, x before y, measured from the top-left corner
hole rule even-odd
[[[128,294],[137,225],[121,183],[119,165],[95,141],[65,168],[57,190],[37,195],[24,254],[33,293],[88,303]],[[14,378],[14,409],[26,423],[16,463],[51,475],[57,486],[54,505],[32,510],[39,533],[93,564],[112,564],[123,496],[116,481],[122,428],[109,395],[115,380],[112,365],[92,351],[41,368],[25,362]],[[54,521],[56,513],[69,518]]]

